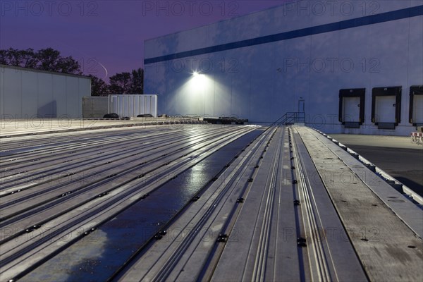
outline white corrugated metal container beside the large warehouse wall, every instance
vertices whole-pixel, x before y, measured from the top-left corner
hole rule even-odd
[[[136,117],[140,114],[157,116],[157,95],[109,95],[109,113],[121,117]]]

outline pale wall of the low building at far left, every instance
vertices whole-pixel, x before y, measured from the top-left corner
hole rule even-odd
[[[0,66],[0,117],[81,118],[82,97],[91,96],[91,79]]]

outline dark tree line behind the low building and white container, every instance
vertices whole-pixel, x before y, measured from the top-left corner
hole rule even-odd
[[[61,56],[60,51],[52,48],[39,49],[0,49],[0,64],[32,68],[57,73],[82,75],[81,66],[72,56]],[[130,72],[116,73],[106,83],[102,78],[88,75],[91,78],[91,95],[106,96],[108,94],[144,94],[144,70],[138,68]]]

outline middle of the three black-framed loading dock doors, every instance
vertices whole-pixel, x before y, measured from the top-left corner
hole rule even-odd
[[[379,129],[395,129],[401,122],[401,90],[400,86],[373,88],[372,122]]]

